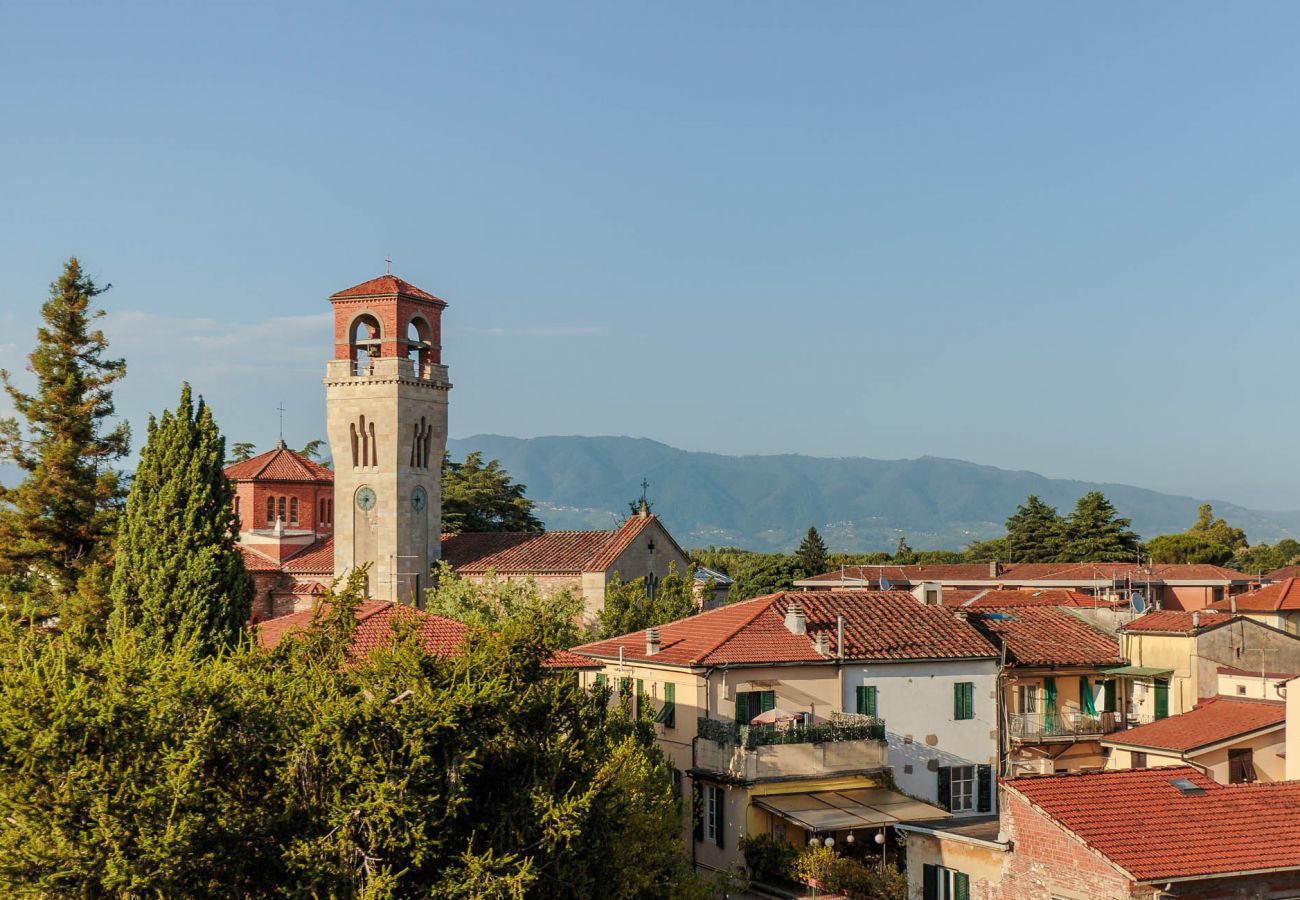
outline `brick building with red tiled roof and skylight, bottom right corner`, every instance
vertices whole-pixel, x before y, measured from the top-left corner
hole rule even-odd
[[[1192,766],[1002,782],[1006,900],[1294,897],[1300,783],[1219,784]],[[978,895],[971,893],[971,897]]]

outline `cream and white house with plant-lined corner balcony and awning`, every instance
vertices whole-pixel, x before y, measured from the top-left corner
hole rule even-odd
[[[909,593],[772,594],[575,653],[604,666],[589,684],[655,709],[701,866],[737,862],[746,834],[801,845],[994,806],[997,652]]]

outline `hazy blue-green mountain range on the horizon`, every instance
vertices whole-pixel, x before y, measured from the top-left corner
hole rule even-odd
[[[959,459],[826,459],[690,453],[632,437],[502,437],[447,441],[454,458],[499,459],[537,503],[547,528],[608,528],[650,483],[654,511],[684,546],[792,550],[816,525],[832,550],[961,549],[997,537],[1037,494],[1062,514],[1101,490],[1144,537],[1186,529],[1205,499],[1122,484],[1048,479]],[[1260,512],[1214,501],[1216,515],[1252,542],[1300,535],[1300,512]]]

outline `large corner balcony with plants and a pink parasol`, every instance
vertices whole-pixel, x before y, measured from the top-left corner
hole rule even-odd
[[[884,737],[883,721],[859,715],[785,728],[701,717],[694,767],[746,783],[850,775],[888,765]]]

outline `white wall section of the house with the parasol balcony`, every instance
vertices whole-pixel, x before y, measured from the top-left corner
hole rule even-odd
[[[975,684],[974,719],[953,718],[958,682]],[[900,789],[937,802],[940,766],[987,765],[997,771],[996,659],[846,663],[842,710],[857,710],[859,685],[876,688],[876,714],[885,721],[889,765]]]

